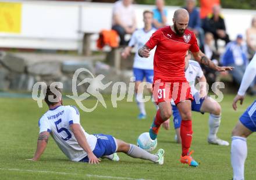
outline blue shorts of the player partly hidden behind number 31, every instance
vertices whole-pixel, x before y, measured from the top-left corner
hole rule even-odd
[[[203,112],[200,111],[202,102],[204,102],[205,98],[199,98],[199,96],[194,95],[194,100],[191,102],[191,110],[200,112],[204,114]],[[174,128],[180,128],[180,124],[182,123],[182,117],[180,116],[179,110],[177,109],[177,106],[172,105],[172,115],[173,115],[173,125]]]

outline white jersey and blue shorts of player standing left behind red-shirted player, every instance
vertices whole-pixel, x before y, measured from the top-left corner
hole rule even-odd
[[[156,29],[152,28],[150,31],[145,31],[144,28],[141,28],[133,33],[131,36],[129,46],[136,47],[136,54],[134,56],[133,63],[133,74],[136,81],[143,81],[145,78],[147,82],[152,83],[154,77],[154,54],[155,49],[150,51],[150,57],[144,58],[138,55],[138,49],[143,47],[145,43],[150,39],[151,35],[155,33]]]

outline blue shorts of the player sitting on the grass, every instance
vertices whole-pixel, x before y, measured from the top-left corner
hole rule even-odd
[[[115,138],[111,135],[94,134],[97,137],[97,143],[93,150],[96,157],[108,156],[116,152],[117,146]],[[81,162],[88,163],[88,156],[80,160]]]

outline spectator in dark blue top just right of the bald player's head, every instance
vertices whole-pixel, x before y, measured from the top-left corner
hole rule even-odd
[[[188,28],[199,38],[200,45],[204,44],[204,30],[201,28],[201,19],[199,10],[195,7],[195,0],[186,0],[186,9],[189,12]]]

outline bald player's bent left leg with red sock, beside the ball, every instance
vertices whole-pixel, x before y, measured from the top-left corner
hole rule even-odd
[[[158,111],[157,115],[155,116],[151,127],[150,127],[150,138],[152,140],[157,139],[159,128],[161,124],[168,120],[169,117],[172,115],[172,107],[170,106],[170,102],[161,102],[158,104]]]

